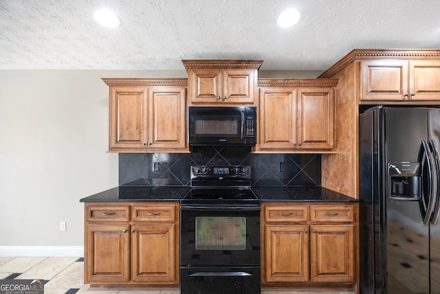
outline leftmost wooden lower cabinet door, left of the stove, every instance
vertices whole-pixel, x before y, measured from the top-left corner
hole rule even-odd
[[[86,283],[129,281],[129,235],[128,224],[86,226]]]

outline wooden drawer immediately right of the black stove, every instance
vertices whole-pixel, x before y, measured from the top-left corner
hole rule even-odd
[[[307,222],[309,207],[295,206],[266,206],[264,209],[265,222]]]

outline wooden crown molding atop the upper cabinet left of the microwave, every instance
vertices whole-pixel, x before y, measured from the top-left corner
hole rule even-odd
[[[188,86],[188,78],[102,78],[102,81],[109,86]]]

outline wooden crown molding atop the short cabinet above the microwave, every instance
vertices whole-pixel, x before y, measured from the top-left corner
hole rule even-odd
[[[252,69],[259,70],[262,60],[182,60],[184,63],[186,71],[192,69],[201,69],[201,68],[237,68],[237,69]]]

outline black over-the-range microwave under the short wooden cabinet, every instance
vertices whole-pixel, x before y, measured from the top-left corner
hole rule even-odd
[[[192,146],[256,145],[256,107],[189,107]]]

